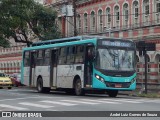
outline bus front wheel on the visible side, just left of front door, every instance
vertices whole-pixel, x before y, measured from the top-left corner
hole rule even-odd
[[[77,95],[77,96],[84,95],[84,90],[82,89],[80,79],[77,79],[74,84],[74,92],[75,92],[75,95]]]

